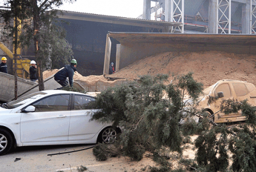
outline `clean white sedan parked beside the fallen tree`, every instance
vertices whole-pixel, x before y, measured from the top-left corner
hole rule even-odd
[[[35,92],[0,107],[0,155],[13,147],[113,143],[119,128],[90,121],[95,97],[65,90]]]

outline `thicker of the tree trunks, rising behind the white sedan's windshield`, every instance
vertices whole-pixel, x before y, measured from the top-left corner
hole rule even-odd
[[[37,61],[37,75],[38,75],[38,86],[39,90],[44,90],[44,78],[43,78],[43,71],[42,71],[42,58],[38,56],[38,50],[40,49],[40,9],[37,6],[37,0],[32,0],[33,5],[33,22],[34,22],[34,45],[35,45],[35,56]]]

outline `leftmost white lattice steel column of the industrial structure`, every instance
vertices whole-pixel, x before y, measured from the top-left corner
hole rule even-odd
[[[170,5],[170,22],[182,23],[182,26],[173,26],[171,32],[184,33],[184,0],[171,0]]]

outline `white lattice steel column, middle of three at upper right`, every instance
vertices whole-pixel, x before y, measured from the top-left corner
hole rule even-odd
[[[253,0],[254,1],[254,0]],[[217,6],[217,34],[231,33],[231,0],[218,0]]]

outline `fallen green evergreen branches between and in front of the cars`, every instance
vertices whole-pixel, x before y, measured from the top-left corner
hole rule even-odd
[[[223,101],[223,112],[242,111],[248,118],[243,125],[212,125],[207,118],[199,123],[180,118],[202,113],[196,106],[186,108],[184,97],[196,102],[203,85],[193,80],[192,73],[177,76],[168,83],[167,75],[141,76],[140,80],[111,87],[97,95],[95,105],[101,109],[92,120],[113,122],[122,133],[113,145],[99,144],[93,154],[99,161],[125,155],[134,161],[150,152],[158,167],[148,171],[256,171],[255,108],[246,101]],[[195,159],[184,159],[182,150],[188,135],[195,140]],[[163,153],[164,152],[164,153]],[[173,158],[170,152],[177,152]],[[182,164],[172,167],[175,160]],[[230,165],[231,164],[231,165]]]

